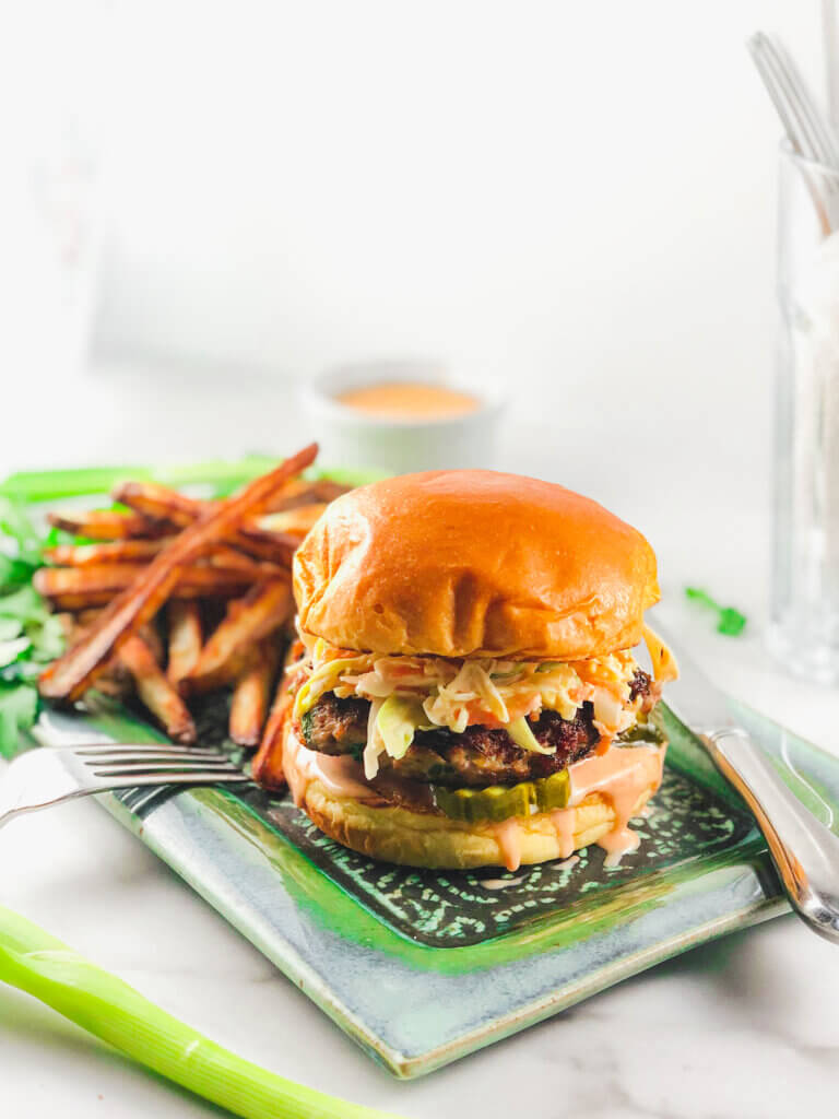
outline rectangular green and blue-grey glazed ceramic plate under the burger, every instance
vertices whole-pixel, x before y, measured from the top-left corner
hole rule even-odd
[[[795,793],[839,818],[839,764],[739,708]],[[224,739],[224,702],[201,712]],[[667,777],[642,841],[510,874],[417,872],[339,847],[255,787],[103,798],[126,827],[367,1052],[416,1076],[695,944],[786,909],[762,837],[669,713]],[[159,739],[123,708],[47,713],[38,737]]]

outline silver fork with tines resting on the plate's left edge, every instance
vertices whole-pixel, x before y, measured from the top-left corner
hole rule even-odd
[[[0,827],[15,816],[74,797],[139,786],[249,780],[217,750],[170,744],[88,743],[21,754],[0,775]]]

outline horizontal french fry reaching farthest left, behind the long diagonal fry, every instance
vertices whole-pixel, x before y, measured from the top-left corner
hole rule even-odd
[[[131,587],[149,571],[143,564],[97,564],[91,567],[40,567],[32,577],[38,594],[67,610],[105,605],[121,591]],[[201,567],[198,564],[179,567],[171,593],[179,599],[205,595],[239,594],[253,579],[241,570]]]

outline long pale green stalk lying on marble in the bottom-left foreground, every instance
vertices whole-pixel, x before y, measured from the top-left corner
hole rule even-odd
[[[0,981],[244,1119],[388,1119],[384,1111],[317,1092],[221,1049],[2,906]]]

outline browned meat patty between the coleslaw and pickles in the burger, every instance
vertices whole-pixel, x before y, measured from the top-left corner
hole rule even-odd
[[[632,688],[633,699],[644,697],[642,709],[654,704],[656,685],[645,673],[635,674]],[[357,753],[367,743],[369,709],[368,700],[357,696],[339,699],[332,692],[321,696],[301,721],[307,745],[326,754]],[[416,781],[477,788],[515,784],[565,769],[591,753],[600,741],[590,703],[583,704],[573,720],[562,718],[555,711],[543,711],[530,727],[537,741],[554,747],[554,753],[522,750],[500,728],[477,725],[456,734],[440,727],[418,731],[404,758],[383,756],[380,764]]]

